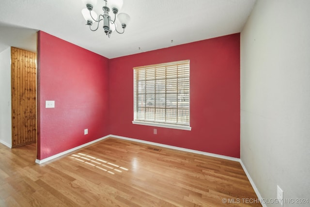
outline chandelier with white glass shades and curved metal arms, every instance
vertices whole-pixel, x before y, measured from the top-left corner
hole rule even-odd
[[[93,11],[93,7],[96,5],[97,0],[83,0],[86,8],[82,9],[82,15],[86,20],[86,25],[89,25],[91,31],[96,31],[99,28],[100,21],[103,21],[103,30],[110,37],[110,34],[115,30],[117,33],[123,34],[125,28],[130,20],[130,16],[125,13],[119,13],[118,11],[123,6],[123,0],[104,0],[105,5],[102,7],[103,14],[100,14],[99,17],[96,12]],[[112,10],[114,16],[109,16],[109,12]],[[117,15],[118,14],[118,15]],[[116,18],[117,15],[117,18]],[[116,25],[116,20],[121,24],[123,31],[119,31],[118,26]],[[92,25],[96,26],[92,28]]]

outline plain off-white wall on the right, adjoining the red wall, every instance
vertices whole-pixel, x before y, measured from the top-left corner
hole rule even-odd
[[[257,0],[241,32],[241,160],[263,198],[310,206],[310,0]]]

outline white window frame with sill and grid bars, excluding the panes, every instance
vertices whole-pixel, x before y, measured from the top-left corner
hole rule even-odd
[[[188,71],[186,71],[186,73],[188,72],[188,76],[182,76],[182,77],[178,77],[178,75],[179,75],[179,68],[178,68],[178,65],[179,64],[188,64]],[[175,88],[175,90],[176,90],[176,98],[177,98],[177,100],[176,100],[176,107],[175,108],[172,108],[172,110],[174,109],[174,110],[176,110],[176,111],[178,111],[178,110],[187,110],[186,111],[186,114],[188,114],[188,122],[187,123],[170,123],[170,122],[167,122],[167,121],[157,121],[157,120],[145,120],[145,119],[143,119],[143,120],[141,120],[141,119],[138,119],[137,117],[138,117],[138,108],[141,108],[141,109],[143,109],[144,108],[144,110],[146,110],[146,109],[148,109],[148,107],[146,107],[146,105],[144,105],[144,107],[139,107],[138,106],[138,104],[139,104],[139,98],[138,98],[138,95],[139,95],[139,92],[138,92],[138,81],[145,81],[145,84],[146,84],[146,81],[147,81],[147,78],[145,78],[144,80],[142,79],[142,80],[136,80],[136,78],[137,78],[137,71],[138,70],[144,70],[144,72],[145,73],[147,73],[147,70],[148,69],[154,69],[154,74],[156,74],[155,72],[157,72],[156,71],[156,68],[159,68],[159,67],[165,67],[165,107],[163,108],[163,107],[156,107],[156,106],[154,106],[154,110],[156,111],[156,109],[158,110],[158,109],[165,109],[165,112],[164,112],[164,115],[165,115],[165,119],[167,119],[167,109],[169,110],[169,109],[171,109],[171,108],[167,108],[167,101],[168,101],[168,99],[167,99],[167,96],[169,95],[169,93],[167,93],[167,67],[169,67],[169,66],[173,66],[173,65],[176,65],[175,67],[176,67],[176,84],[177,84],[177,86],[176,86],[176,88]],[[186,65],[187,66],[187,65]],[[191,127],[190,127],[190,61],[189,60],[183,60],[183,61],[176,61],[176,62],[170,62],[170,63],[162,63],[162,64],[153,64],[153,65],[145,65],[145,66],[139,66],[139,67],[134,67],[133,68],[133,70],[134,70],[134,73],[133,73],[133,81],[134,81],[134,93],[133,93],[133,95],[134,95],[134,119],[133,119],[133,121],[132,121],[132,123],[133,124],[138,124],[138,125],[145,125],[145,126],[153,126],[153,127],[166,127],[166,128],[174,128],[174,129],[183,129],[183,130],[191,130]],[[187,69],[186,69],[187,70]],[[152,77],[152,76],[151,76]],[[178,81],[179,81],[179,79],[188,79],[188,80],[186,80],[186,81],[184,81],[184,80],[181,80],[181,82],[182,81],[184,81],[184,83],[186,83],[186,84],[188,84],[188,86],[186,86],[186,90],[188,89],[188,106],[186,106],[185,108],[184,107],[180,107],[180,106],[178,106],[178,104],[179,104],[179,99],[178,99],[178,94],[180,93],[179,91],[178,91]],[[160,79],[156,79],[156,75],[154,75],[154,82],[156,82],[156,80],[158,81],[158,80],[160,80]],[[183,83],[183,82],[182,82]],[[156,84],[156,83],[154,83],[154,87],[156,88],[157,86],[159,86],[158,84]],[[146,85],[144,86],[144,87],[147,87]],[[144,91],[145,91],[145,96],[147,96],[147,95],[152,95],[152,93],[147,93],[146,92],[146,88],[144,88]],[[155,90],[155,89],[154,89]],[[155,90],[156,91],[156,90]],[[173,94],[173,93],[172,93]],[[187,93],[186,93],[187,94]],[[158,93],[156,93],[156,92],[154,92],[154,96],[155,96],[155,100],[156,101],[159,101],[160,100],[160,98],[158,98]],[[156,97],[157,96],[157,97]],[[187,97],[187,95],[186,95],[186,97]],[[144,102],[146,102],[146,98],[144,99]],[[181,102],[182,103],[182,102]],[[146,104],[146,103],[145,103]],[[153,107],[152,107],[153,108]],[[178,117],[176,117],[176,120],[178,119]],[[187,120],[186,120],[187,121]]]

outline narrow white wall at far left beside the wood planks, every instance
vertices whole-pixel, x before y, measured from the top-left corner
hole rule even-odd
[[[11,47],[0,53],[0,143],[12,147]]]

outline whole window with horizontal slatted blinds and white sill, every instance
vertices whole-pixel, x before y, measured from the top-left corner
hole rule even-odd
[[[133,124],[191,130],[189,60],[133,69]]]

